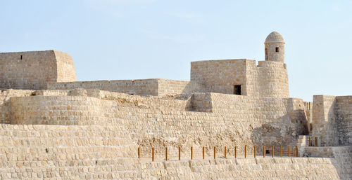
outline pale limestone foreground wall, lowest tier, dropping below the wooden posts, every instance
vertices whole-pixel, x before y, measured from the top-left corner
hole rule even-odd
[[[351,179],[351,148],[330,158],[137,159],[123,126],[0,125],[1,179]],[[346,156],[347,155],[347,156]],[[344,158],[343,158],[344,156]],[[348,158],[347,158],[348,157]]]

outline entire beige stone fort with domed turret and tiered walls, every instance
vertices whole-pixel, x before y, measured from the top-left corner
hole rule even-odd
[[[0,53],[0,179],[352,179],[352,96],[289,97],[284,39],[264,44],[258,64],[191,62],[191,81]]]

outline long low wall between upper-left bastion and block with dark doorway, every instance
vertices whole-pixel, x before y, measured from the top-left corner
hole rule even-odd
[[[142,96],[190,95],[194,92],[205,92],[204,85],[201,83],[161,78],[113,81],[76,81],[63,83],[49,82],[47,88],[49,90],[72,90],[75,88],[84,88],[88,90],[99,89]]]

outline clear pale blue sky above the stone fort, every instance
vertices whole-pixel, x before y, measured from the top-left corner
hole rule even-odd
[[[352,95],[352,1],[0,0],[0,52],[61,50],[78,81],[190,78],[286,41],[291,97]]]

